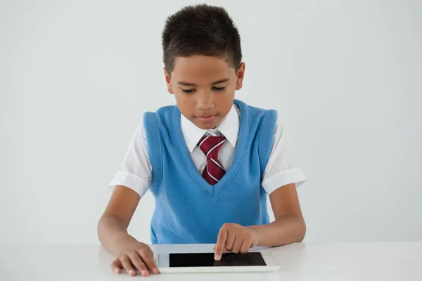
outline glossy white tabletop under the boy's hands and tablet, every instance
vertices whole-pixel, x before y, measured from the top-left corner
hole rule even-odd
[[[158,245],[157,252],[212,251],[213,244]],[[252,250],[262,250],[254,248]],[[267,248],[276,273],[160,274],[151,280],[422,280],[422,242],[298,243]],[[113,256],[93,246],[0,246],[0,280],[139,280],[116,275]]]

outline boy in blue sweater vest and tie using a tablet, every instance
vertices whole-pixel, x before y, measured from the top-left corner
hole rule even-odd
[[[148,189],[153,244],[216,243],[219,260],[226,251],[301,242],[296,187],[305,176],[290,165],[276,112],[234,99],[245,63],[229,15],[207,5],[183,8],[167,19],[162,48],[177,106],[143,115],[98,222],[101,243],[116,256],[115,273],[158,273],[150,247],[127,233]]]

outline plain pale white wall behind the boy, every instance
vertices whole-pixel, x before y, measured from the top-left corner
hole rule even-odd
[[[165,19],[198,2],[146,3],[0,1],[0,244],[98,244],[139,118],[174,103]],[[208,3],[241,33],[236,98],[279,111],[307,175],[305,241],[422,240],[422,2]]]

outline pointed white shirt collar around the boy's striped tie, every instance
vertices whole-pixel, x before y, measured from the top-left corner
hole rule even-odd
[[[180,114],[180,126],[183,133],[186,146],[189,152],[193,152],[198,145],[200,138],[207,132],[207,130],[200,129],[195,124],[190,122],[184,115]],[[231,106],[229,113],[222,119],[222,122],[215,128],[220,131],[229,141],[233,148],[236,148],[238,133],[239,133],[239,115],[234,105]]]

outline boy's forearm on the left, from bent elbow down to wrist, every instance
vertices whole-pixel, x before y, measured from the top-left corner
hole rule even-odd
[[[104,216],[98,221],[98,239],[103,247],[112,254],[116,253],[116,245],[119,240],[130,237],[123,221],[117,216]]]

